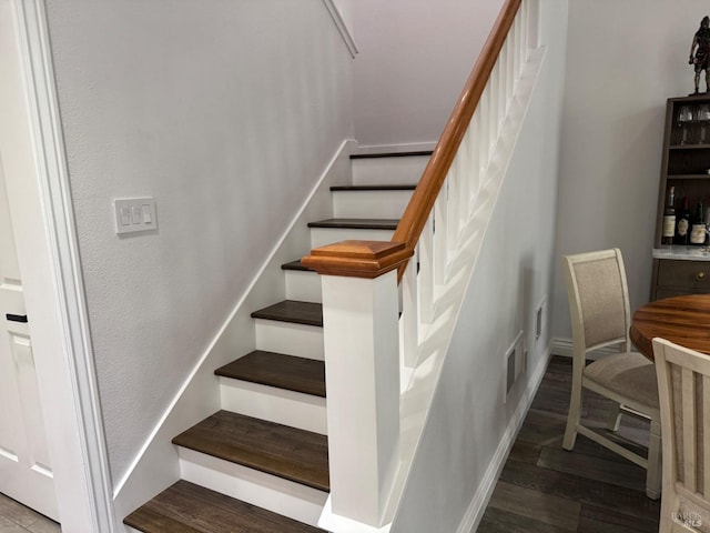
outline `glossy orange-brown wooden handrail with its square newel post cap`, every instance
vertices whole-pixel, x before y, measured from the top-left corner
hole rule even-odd
[[[468,80],[466,80],[464,90],[458,97],[454,111],[429,158],[429,162],[424,169],[419,183],[412,194],[412,199],[399,220],[399,224],[397,224],[397,229],[392,238],[392,243],[404,243],[408,253],[407,259],[404,261],[390,261],[383,255],[378,258],[379,261],[389,264],[392,262],[398,262],[400,279],[406,269],[408,258],[414,254],[414,249],[419,240],[419,235],[432,213],[432,209],[434,209],[434,202],[442,190],[442,185],[456,157],[458,147],[478,107],[480,97],[488,83],[498,56],[503,50],[503,46],[513,27],[521,1],[523,0],[506,0],[476,64]],[[394,249],[396,249],[396,252],[393,251],[393,253],[402,255],[402,249],[399,247],[393,247],[393,250]],[[349,250],[347,241],[344,241],[337,245],[312,250],[311,255],[303,258],[302,262],[321,274],[372,278],[372,269],[365,268],[363,262],[357,259],[357,255],[358,251]],[[326,263],[329,265],[327,272],[323,268]]]

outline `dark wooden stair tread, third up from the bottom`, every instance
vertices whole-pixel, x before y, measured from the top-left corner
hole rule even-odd
[[[255,350],[214,373],[325,398],[325,363],[313,359]]]

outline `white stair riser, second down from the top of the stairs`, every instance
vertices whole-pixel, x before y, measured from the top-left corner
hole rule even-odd
[[[413,191],[333,191],[336,218],[400,219]]]

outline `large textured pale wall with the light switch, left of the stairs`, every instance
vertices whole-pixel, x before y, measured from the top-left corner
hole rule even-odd
[[[352,60],[321,0],[49,0],[48,19],[115,483],[352,137]],[[116,237],[112,199],[139,195],[159,230]]]

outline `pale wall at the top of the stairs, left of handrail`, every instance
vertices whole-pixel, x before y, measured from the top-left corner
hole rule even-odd
[[[437,141],[503,0],[355,0],[362,145]]]

